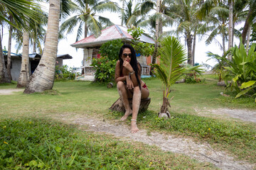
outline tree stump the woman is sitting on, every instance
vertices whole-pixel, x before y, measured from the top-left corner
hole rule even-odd
[[[151,101],[151,98],[142,99],[141,104],[139,106],[139,112],[146,111],[149,108],[150,101]],[[129,106],[132,109],[132,98],[129,98]],[[125,108],[124,108],[121,98],[118,98],[117,101],[115,101],[112,104],[112,106],[110,107],[110,110],[125,113]]]

